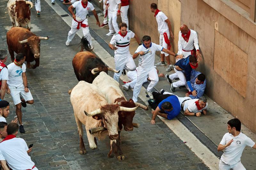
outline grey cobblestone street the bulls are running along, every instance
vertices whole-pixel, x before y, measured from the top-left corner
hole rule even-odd
[[[0,48],[8,49],[6,28],[11,26],[11,22],[6,12],[8,1],[2,2]],[[35,103],[22,107],[26,133],[18,135],[28,145],[34,144],[30,156],[38,169],[208,169],[159,118],[156,118],[156,125],[151,125],[151,111],[142,109],[136,111],[133,119],[140,127],[131,132],[121,132],[125,160],[107,157],[110,150],[108,137],[97,141],[97,149],[90,149],[86,133],[84,144],[87,153],[80,155],[79,135],[68,94],[68,90],[78,83],[72,59],[80,50],[80,38],[76,35],[72,44],[66,47],[70,27],[44,0],[41,0],[41,17],[35,16],[34,7],[31,13],[31,31],[38,36],[48,36],[49,40],[41,40],[40,66],[26,71]],[[8,54],[6,63],[10,62]],[[109,75],[113,76],[112,73]],[[131,90],[123,92],[127,99],[132,98]],[[10,122],[15,116],[15,106],[10,95],[6,94],[5,100],[11,102],[7,119]],[[142,100],[138,102],[143,103]]]

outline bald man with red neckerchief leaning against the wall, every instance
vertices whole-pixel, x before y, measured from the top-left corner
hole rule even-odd
[[[196,31],[189,29],[186,25],[180,26],[178,49],[178,55],[183,54],[183,58],[187,58],[188,55],[201,57]]]

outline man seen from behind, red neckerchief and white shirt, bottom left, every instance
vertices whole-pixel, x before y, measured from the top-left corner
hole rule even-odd
[[[32,151],[32,147],[28,146],[24,139],[16,137],[19,126],[17,123],[7,125],[7,136],[0,143],[0,161],[1,165],[4,161],[13,170],[38,170],[35,163],[31,160],[28,153]],[[7,170],[6,167],[4,170]]]

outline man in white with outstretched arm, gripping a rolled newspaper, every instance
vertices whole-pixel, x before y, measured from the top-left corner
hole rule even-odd
[[[152,43],[151,38],[148,35],[143,36],[142,41],[143,41],[143,44],[137,48],[137,50],[135,51],[135,54],[132,56],[132,58],[135,59],[140,55],[139,67],[137,70],[138,71],[137,82],[133,89],[132,100],[134,102],[138,101],[137,98],[140,93],[140,88],[147,76],[150,78],[151,82],[148,85],[146,94],[148,94],[150,99],[153,99],[151,90],[154,88],[154,86],[158,82],[157,72],[156,72],[156,69],[154,68],[156,51],[164,51],[165,53],[168,53],[170,55],[173,55],[173,56],[175,55],[174,52],[168,49],[165,49],[160,45]],[[178,57],[182,58],[182,56],[180,55],[177,55],[177,58]]]

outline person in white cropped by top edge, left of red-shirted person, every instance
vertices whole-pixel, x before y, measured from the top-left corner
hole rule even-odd
[[[120,15],[121,9],[121,0],[109,0],[108,7],[108,26],[109,33],[107,36],[113,35],[114,32],[118,33],[118,25],[116,22],[117,16]]]

